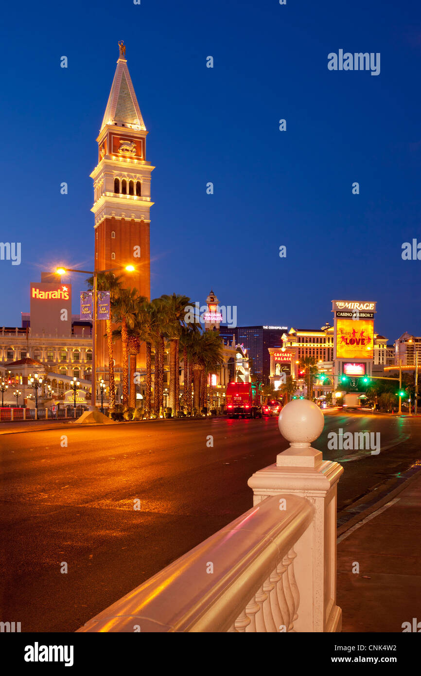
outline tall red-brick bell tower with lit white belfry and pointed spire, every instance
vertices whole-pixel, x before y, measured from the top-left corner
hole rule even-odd
[[[95,270],[115,270],[126,288],[150,300],[149,210],[151,172],[146,160],[147,130],[127,68],[126,47],[120,57],[99,131],[98,164],[91,174],[94,187]],[[126,272],[127,265],[135,272]],[[120,269],[119,269],[120,268]],[[107,380],[108,351],[101,323],[95,341],[97,379]],[[120,344],[114,345],[116,381],[121,369]],[[139,355],[139,365],[144,356]]]

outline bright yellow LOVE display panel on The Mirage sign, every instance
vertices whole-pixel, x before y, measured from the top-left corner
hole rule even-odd
[[[336,320],[337,359],[373,358],[374,322],[369,319]]]

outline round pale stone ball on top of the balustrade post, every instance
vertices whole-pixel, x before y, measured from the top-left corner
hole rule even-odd
[[[296,399],[282,408],[278,427],[290,446],[309,446],[322,432],[324,415],[313,402]]]

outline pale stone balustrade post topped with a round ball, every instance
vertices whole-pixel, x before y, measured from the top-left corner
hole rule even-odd
[[[343,467],[323,460],[322,453],[310,445],[324,427],[324,416],[316,404],[290,402],[279,414],[278,427],[290,448],[278,454],[276,464],[250,477],[253,504],[276,493],[292,493],[310,500],[315,509],[312,524],[294,552],[278,566],[283,577],[278,582],[283,587],[278,589],[283,592],[280,601],[287,601],[291,613],[287,631],[341,631],[342,611],[336,604],[336,540],[337,483]],[[288,511],[288,499],[284,508]]]

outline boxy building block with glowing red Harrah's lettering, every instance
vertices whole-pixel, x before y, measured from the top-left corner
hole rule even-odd
[[[72,333],[72,286],[51,282],[30,285],[30,332],[45,335]]]

